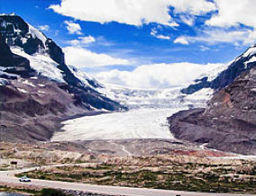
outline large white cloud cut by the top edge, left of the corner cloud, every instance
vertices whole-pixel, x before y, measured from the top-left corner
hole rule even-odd
[[[169,0],[62,0],[50,9],[82,21],[177,25],[169,15],[169,4]]]

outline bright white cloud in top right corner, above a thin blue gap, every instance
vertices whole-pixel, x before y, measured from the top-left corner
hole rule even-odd
[[[255,0],[215,0],[215,4],[218,12],[206,21],[206,24],[230,27],[242,23],[256,27]]]

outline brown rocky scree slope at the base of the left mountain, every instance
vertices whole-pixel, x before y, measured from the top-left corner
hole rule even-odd
[[[86,111],[76,106],[71,94],[43,77],[10,80],[9,85],[0,85],[0,141],[48,140],[61,128],[62,118]]]

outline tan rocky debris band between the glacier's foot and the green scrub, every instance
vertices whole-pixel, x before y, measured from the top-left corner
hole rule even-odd
[[[151,161],[150,158],[139,157],[164,157],[170,162],[198,162],[203,158],[233,156],[220,151],[202,149],[198,146],[187,146],[187,144],[171,144],[172,141],[159,142],[157,140],[145,139],[144,141],[134,140],[95,140],[87,142],[40,142],[35,144],[21,143],[0,143],[0,168],[8,160],[18,160],[18,165],[31,167],[33,165],[54,165],[63,163],[130,163],[133,165],[161,165],[162,162]],[[136,144],[137,143],[137,144]],[[129,145],[130,144],[130,145]],[[124,146],[125,145],[125,146]],[[115,147],[114,147],[115,146]],[[129,146],[131,148],[129,148]],[[134,150],[132,150],[134,148]],[[136,150],[135,150],[136,149]],[[154,149],[151,151],[151,149]],[[157,150],[156,150],[157,149]],[[127,153],[128,152],[128,153]],[[130,158],[131,157],[131,158]],[[170,158],[171,157],[171,158]],[[184,158],[185,157],[185,158]],[[191,157],[191,159],[189,159]],[[172,159],[173,158],[173,159]],[[152,158],[153,159],[153,158]],[[5,160],[5,162],[4,162]],[[164,161],[163,163],[167,163]],[[11,165],[10,165],[11,166]],[[6,169],[7,167],[5,167]]]

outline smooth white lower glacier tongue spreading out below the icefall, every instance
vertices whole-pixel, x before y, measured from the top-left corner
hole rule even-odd
[[[187,108],[183,108],[186,110]],[[65,131],[58,132],[52,141],[173,138],[166,118],[180,109],[136,109],[106,113],[63,122]]]

